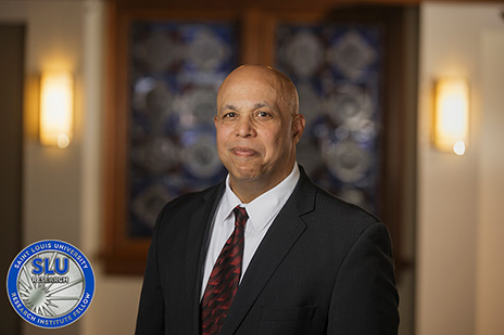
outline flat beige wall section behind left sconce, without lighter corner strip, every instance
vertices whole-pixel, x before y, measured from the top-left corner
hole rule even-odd
[[[65,69],[80,80],[84,3],[62,1],[0,1],[2,23],[26,25],[25,74],[27,83],[37,82],[42,70]],[[34,81],[32,81],[34,79]],[[80,201],[80,104],[75,105],[74,142],[61,151],[39,145],[36,137],[37,94],[28,87],[25,101],[25,137],[23,145],[23,237],[25,245],[54,239],[79,246]],[[80,90],[76,90],[78,101]],[[40,334],[42,328],[23,322],[23,334]],[[78,334],[75,323],[56,331]]]

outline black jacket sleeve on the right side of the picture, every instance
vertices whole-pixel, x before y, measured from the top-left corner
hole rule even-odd
[[[331,296],[328,334],[398,334],[395,288],[389,232],[368,227],[349,250]]]

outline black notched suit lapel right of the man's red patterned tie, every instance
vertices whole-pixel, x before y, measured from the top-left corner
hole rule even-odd
[[[303,234],[301,216],[314,208],[315,188],[301,169],[300,181],[255,252],[228,311],[220,334],[236,332],[278,266]]]

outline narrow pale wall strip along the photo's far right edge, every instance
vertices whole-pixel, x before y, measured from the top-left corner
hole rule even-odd
[[[476,334],[504,330],[504,28],[483,33]]]

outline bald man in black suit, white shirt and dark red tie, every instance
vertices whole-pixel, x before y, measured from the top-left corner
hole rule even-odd
[[[137,334],[396,334],[387,228],[295,163],[292,81],[235,69],[217,95],[225,182],[161,211]]]

